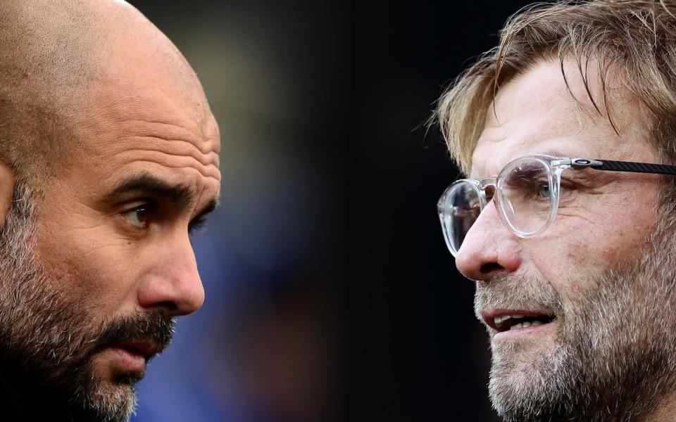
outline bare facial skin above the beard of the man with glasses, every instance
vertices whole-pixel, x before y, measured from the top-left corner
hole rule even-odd
[[[570,63],[567,76],[573,94],[584,102],[587,94],[577,69]],[[632,124],[631,120],[616,122],[622,134],[618,136],[603,116],[578,112],[555,62],[539,65],[503,87],[496,96],[495,110],[488,114],[472,155],[470,177],[474,179],[495,176],[522,155],[551,151],[565,157],[656,160],[646,143],[637,142],[646,136],[641,124]],[[590,103],[587,110],[593,110]],[[631,115],[628,110],[621,114],[627,119]],[[655,210],[642,207],[629,220],[624,205],[630,200],[655,203],[656,177],[601,172],[593,176],[591,186],[585,186],[589,194],[581,198],[579,205],[572,209],[560,207],[554,226],[536,238],[525,240],[511,234],[490,205],[463,243],[456,259],[458,269],[472,280],[484,280],[501,271],[558,279],[573,263],[580,271],[594,271],[608,260],[630,255],[655,221]],[[602,201],[596,200],[597,193],[603,194]],[[561,236],[570,230],[584,236]]]

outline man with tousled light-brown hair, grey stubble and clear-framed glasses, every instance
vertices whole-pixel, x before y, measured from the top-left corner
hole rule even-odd
[[[505,421],[676,420],[676,4],[539,4],[439,101]]]

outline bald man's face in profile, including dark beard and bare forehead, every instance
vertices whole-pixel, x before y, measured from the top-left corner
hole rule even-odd
[[[140,13],[110,3],[118,29],[68,117],[76,148],[39,194],[15,186],[0,234],[4,366],[83,421],[127,420],[175,317],[201,307],[189,231],[220,186],[218,125],[194,72]]]

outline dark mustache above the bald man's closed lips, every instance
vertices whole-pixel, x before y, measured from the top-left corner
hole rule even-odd
[[[122,316],[105,324],[94,340],[94,352],[113,343],[148,339],[158,345],[158,353],[165,350],[174,335],[176,322],[161,311]]]

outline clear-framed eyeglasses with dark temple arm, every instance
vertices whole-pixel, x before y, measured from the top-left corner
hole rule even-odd
[[[589,160],[527,155],[513,160],[496,176],[453,182],[439,198],[437,210],[446,245],[458,255],[472,224],[493,203],[502,221],[520,238],[541,234],[556,217],[561,200],[561,173],[581,169],[676,175],[676,166],[644,162]]]

